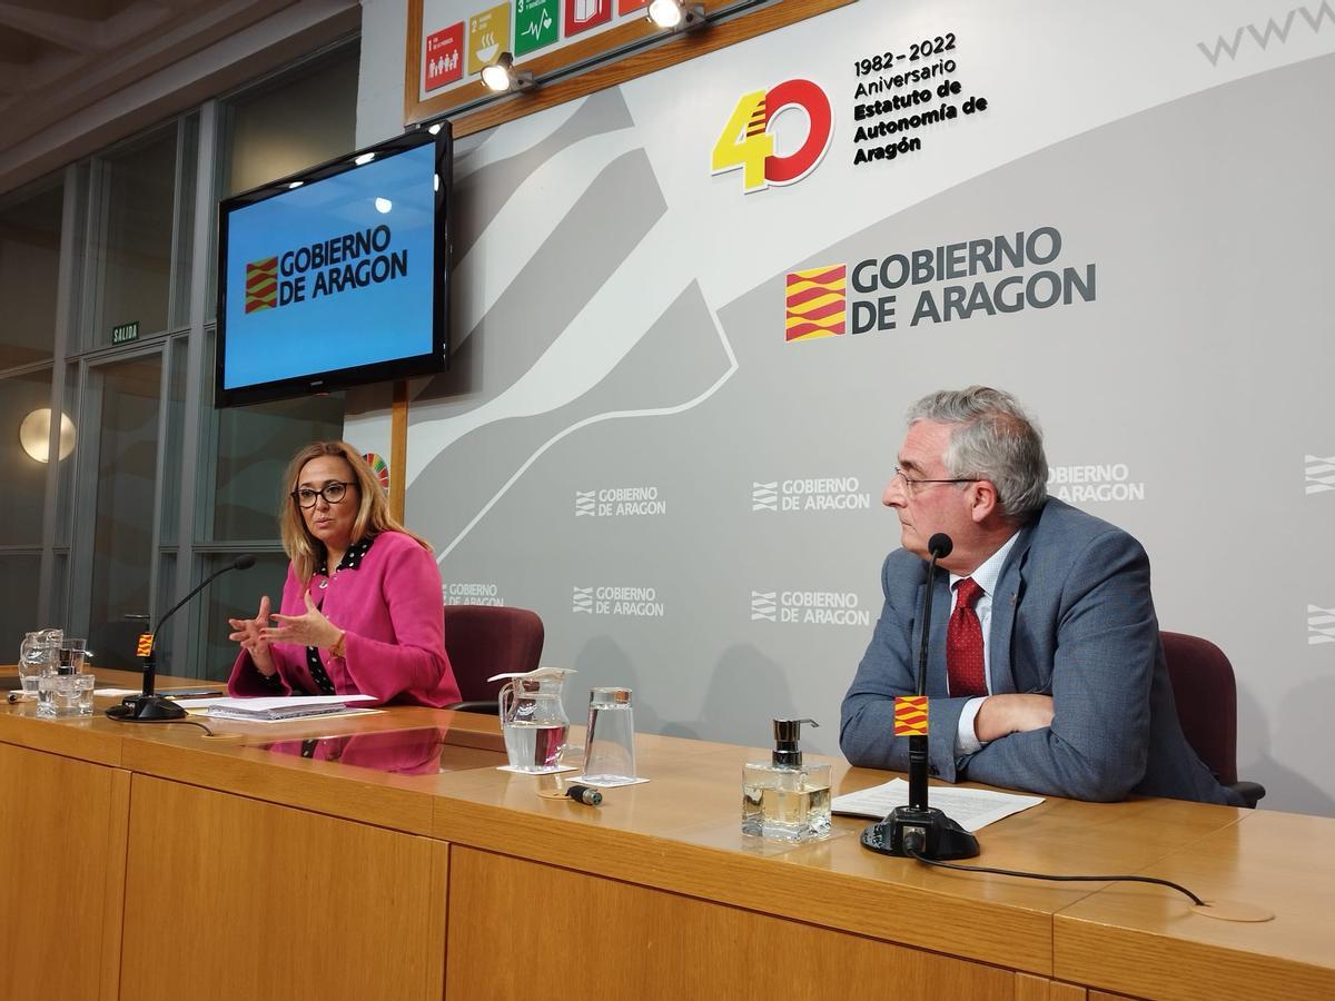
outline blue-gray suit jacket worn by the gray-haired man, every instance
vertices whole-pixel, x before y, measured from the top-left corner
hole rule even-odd
[[[881,585],[885,607],[844,697],[840,746],[853,765],[904,771],[908,738],[893,737],[893,698],[917,690],[926,562],[896,550]],[[1149,559],[1127,533],[1055,499],[1020,531],[992,597],[992,690],[1052,695],[1052,726],[959,759],[955,735],[968,699],[947,695],[949,614],[949,574],[939,571],[926,666],[933,775],[1075,799],[1137,793],[1243,805],[1181,734]]]

